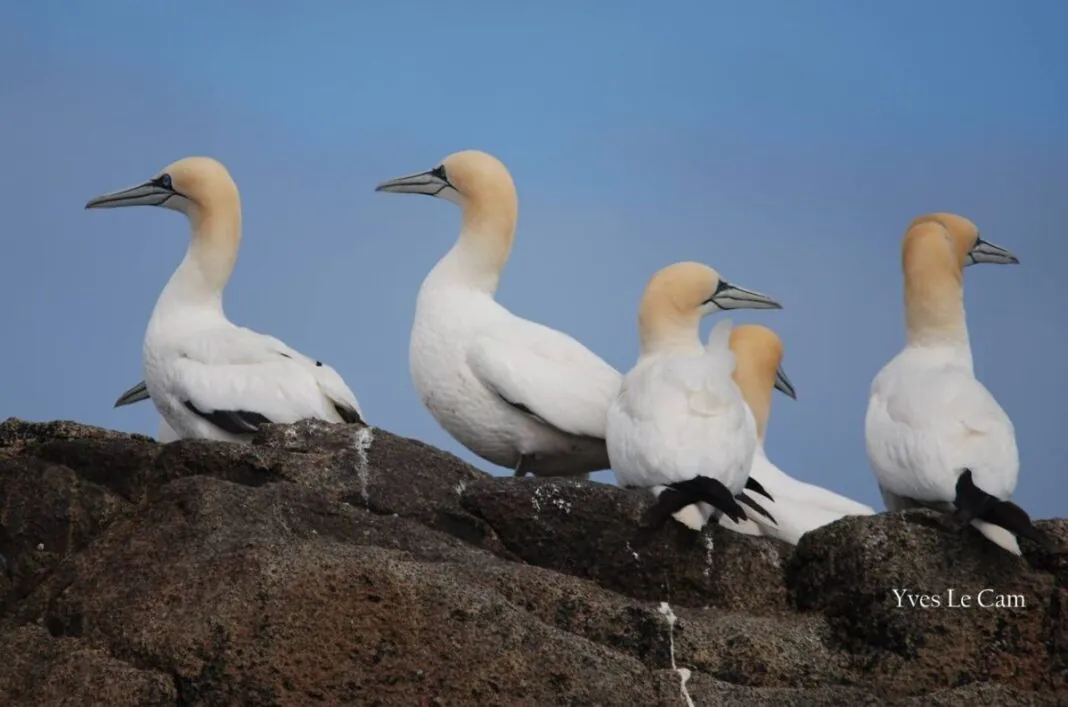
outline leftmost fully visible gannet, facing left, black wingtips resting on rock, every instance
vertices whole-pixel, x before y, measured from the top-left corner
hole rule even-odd
[[[237,185],[218,161],[188,157],[148,182],[104,194],[85,208],[163,206],[192,235],[144,336],[145,390],[182,438],[244,441],[264,423],[362,422],[337,372],[272,336],[232,324],[222,308],[241,238]]]

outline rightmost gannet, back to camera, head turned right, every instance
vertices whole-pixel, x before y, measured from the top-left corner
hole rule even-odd
[[[1009,501],[1020,468],[1012,422],[975,379],[963,268],[1019,263],[952,214],[913,221],[901,243],[906,346],[871,382],[865,441],[886,507],[971,521],[1020,554],[1014,535],[1049,541]]]

